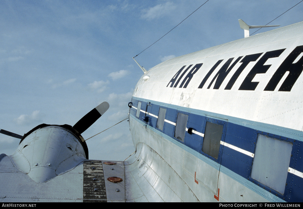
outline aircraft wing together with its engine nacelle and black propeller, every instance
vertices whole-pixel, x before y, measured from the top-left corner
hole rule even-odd
[[[74,126],[41,124],[21,139],[15,153],[0,155],[0,202],[125,201],[124,162],[88,160],[81,136],[106,110],[103,102]]]

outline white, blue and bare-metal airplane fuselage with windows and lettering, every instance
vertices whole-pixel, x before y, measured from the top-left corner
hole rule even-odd
[[[176,194],[171,201],[302,201],[302,26],[170,59],[146,72],[129,113],[138,157],[145,158],[142,176],[161,178]],[[182,182],[179,192],[160,164]],[[160,184],[158,178],[149,184]]]

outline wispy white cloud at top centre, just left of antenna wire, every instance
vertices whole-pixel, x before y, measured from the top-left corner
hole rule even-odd
[[[169,14],[172,10],[176,8],[176,5],[172,2],[166,2],[165,4],[158,4],[154,7],[143,9],[141,17],[143,19],[157,19],[164,17],[165,15]]]

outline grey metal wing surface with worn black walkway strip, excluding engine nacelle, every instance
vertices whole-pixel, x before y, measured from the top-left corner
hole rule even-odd
[[[0,202],[125,201],[123,161],[83,160],[74,169],[37,183],[14,166],[12,157],[0,158]]]

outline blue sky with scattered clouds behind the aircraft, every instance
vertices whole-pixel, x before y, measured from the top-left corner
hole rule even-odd
[[[23,135],[41,123],[74,125],[103,101],[109,110],[82,136],[118,123],[127,117],[143,75],[132,57],[205,1],[1,0],[0,129]],[[300,1],[210,0],[136,60],[150,69],[168,58],[241,39],[238,19],[265,25]],[[302,8],[303,2],[271,25],[303,21]],[[0,153],[12,155],[18,143],[1,134]],[[87,144],[90,159],[124,160],[135,151],[127,121]]]

